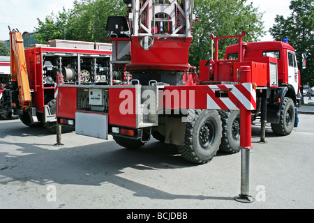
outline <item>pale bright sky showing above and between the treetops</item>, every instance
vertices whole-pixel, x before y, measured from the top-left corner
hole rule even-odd
[[[291,14],[290,1],[248,0],[247,2],[253,2],[253,6],[264,13],[265,31],[268,31],[273,26],[276,15],[283,15],[286,18]],[[31,33],[38,26],[37,18],[44,21],[52,12],[58,15],[63,7],[73,8],[73,0],[1,0],[0,7],[0,40],[8,40],[8,26],[11,30],[18,29],[21,33],[24,31]],[[267,35],[260,40],[271,41],[273,38],[267,32]]]

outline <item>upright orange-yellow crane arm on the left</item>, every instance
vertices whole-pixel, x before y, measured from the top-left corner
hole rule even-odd
[[[20,32],[10,31],[11,81],[17,82],[22,110],[29,108],[31,105],[31,90],[29,88],[23,42]]]

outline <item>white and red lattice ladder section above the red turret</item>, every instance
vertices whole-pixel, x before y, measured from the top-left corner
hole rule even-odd
[[[192,37],[193,1],[135,0],[133,14],[134,36]]]

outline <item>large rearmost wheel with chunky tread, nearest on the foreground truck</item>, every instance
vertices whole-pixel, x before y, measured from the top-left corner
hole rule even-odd
[[[204,164],[216,155],[222,137],[220,116],[217,111],[193,110],[188,112],[184,146],[177,146],[181,157],[189,162]]]

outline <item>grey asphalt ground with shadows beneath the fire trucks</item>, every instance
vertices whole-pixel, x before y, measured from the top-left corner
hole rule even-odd
[[[241,153],[218,153],[208,164],[183,160],[174,146],[151,139],[138,150],[109,141],[62,135],[0,120],[0,208],[26,209],[312,209],[314,115],[267,144],[252,132],[250,192],[239,203]]]

